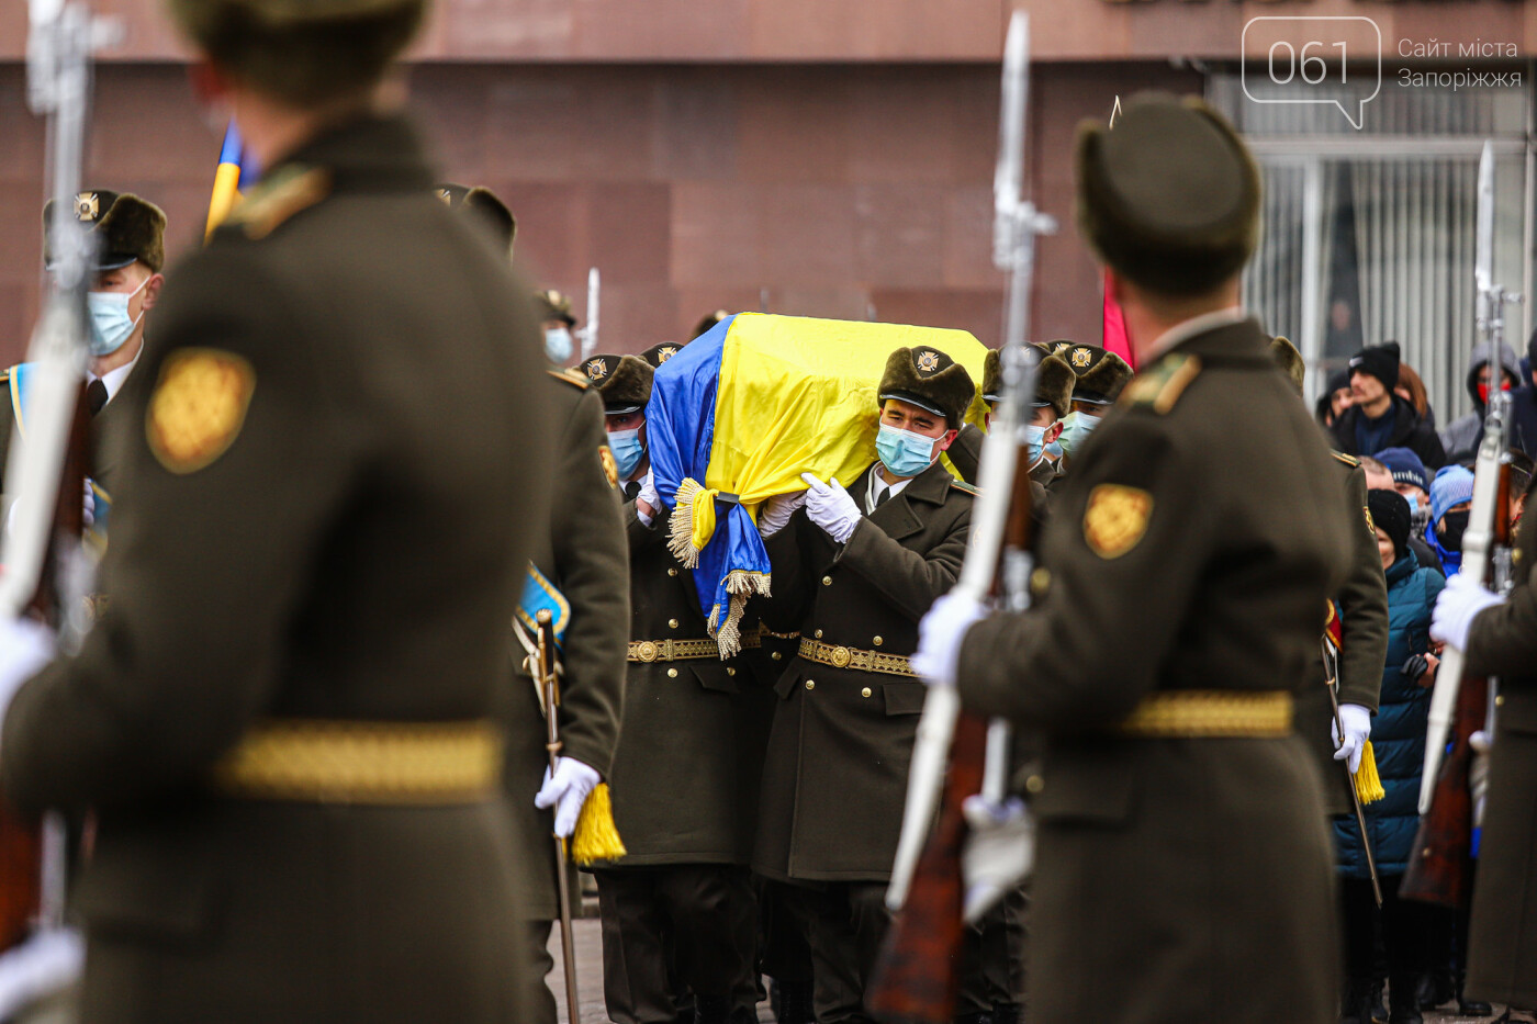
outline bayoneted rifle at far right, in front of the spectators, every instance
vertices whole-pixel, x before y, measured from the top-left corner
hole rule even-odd
[[[1505,343],[1505,306],[1522,297],[1494,281],[1494,148],[1483,145],[1479,158],[1479,234],[1474,277],[1479,286],[1479,334],[1499,352]],[[1489,360],[1491,372],[1499,360]],[[1514,583],[1511,572],[1511,397],[1489,381],[1483,412],[1483,440],[1474,464],[1472,509],[1462,538],[1462,572],[1494,587],[1502,597]],[[1431,524],[1436,529],[1436,524]],[[1460,906],[1466,896],[1472,829],[1480,809],[1471,792],[1479,729],[1494,738],[1499,684],[1463,672],[1465,655],[1448,646],[1436,672],[1429,724],[1425,736],[1425,775],[1420,780],[1420,829],[1399,889],[1408,899]],[[1454,727],[1456,726],[1456,727]],[[1445,756],[1451,733],[1451,753]]]

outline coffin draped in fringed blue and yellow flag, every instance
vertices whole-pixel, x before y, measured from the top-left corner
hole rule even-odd
[[[851,484],[875,461],[885,360],[918,344],[981,383],[987,349],[965,331],[768,314],[727,317],[656,371],[652,474],[722,658],[741,649],[747,598],[770,592],[758,507],[805,490],[804,472]],[[982,409],[973,398],[967,420]]]

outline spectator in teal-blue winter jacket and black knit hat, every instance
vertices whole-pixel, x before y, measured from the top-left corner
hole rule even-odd
[[[1386,796],[1365,806],[1382,881],[1382,910],[1373,899],[1356,818],[1336,818],[1348,978],[1340,1019],[1371,1021],[1373,944],[1380,924],[1388,958],[1389,1021],[1419,1024],[1416,982],[1432,967],[1434,953],[1443,946],[1437,930],[1445,930],[1449,923],[1434,907],[1399,899],[1397,893],[1420,824],[1417,801],[1425,766],[1425,726],[1437,666],[1429,640],[1431,609],[1445,580],[1434,569],[1420,566],[1408,547],[1409,504],[1403,495],[1369,490],[1366,500],[1388,580],[1388,660],[1371,727]]]

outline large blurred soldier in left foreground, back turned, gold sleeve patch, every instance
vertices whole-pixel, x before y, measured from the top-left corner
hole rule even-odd
[[[424,5],[171,11],[267,172],[157,309],[111,609],[0,638],[8,800],[97,821],[80,1019],[527,1019],[493,716],[549,381],[384,83]]]

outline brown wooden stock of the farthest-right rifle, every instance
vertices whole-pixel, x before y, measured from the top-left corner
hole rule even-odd
[[[1511,543],[1511,464],[1499,467],[1494,526],[1489,532],[1491,550]],[[1496,561],[1496,560],[1488,560]],[[1480,583],[1483,583],[1480,580]],[[1459,663],[1460,664],[1460,663]],[[1440,686],[1440,681],[1437,681]],[[1457,689],[1457,710],[1452,716],[1451,753],[1436,773],[1436,790],[1429,810],[1420,816],[1414,833],[1409,864],[1399,886],[1405,899],[1419,899],[1442,907],[1460,907],[1471,896],[1468,876],[1472,867],[1472,786],[1474,750],[1471,736],[1483,729],[1489,713],[1489,680],[1465,675]]]

